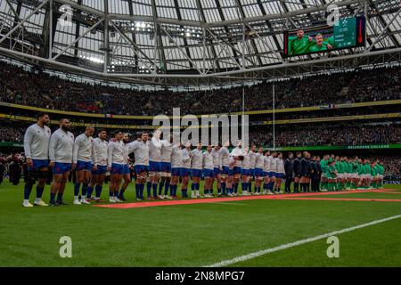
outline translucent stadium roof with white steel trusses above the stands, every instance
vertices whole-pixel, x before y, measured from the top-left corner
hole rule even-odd
[[[365,15],[366,46],[283,58],[283,31],[322,24],[329,4]],[[398,0],[2,0],[0,22],[0,53],[139,84],[229,84],[400,59]]]

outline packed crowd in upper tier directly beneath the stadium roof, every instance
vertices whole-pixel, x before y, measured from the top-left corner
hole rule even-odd
[[[274,83],[275,108],[400,99],[399,67],[291,78]],[[272,108],[273,83],[246,86],[246,110]],[[138,91],[89,85],[0,61],[0,102],[52,110],[120,115],[227,113],[242,108],[242,87],[209,91]]]

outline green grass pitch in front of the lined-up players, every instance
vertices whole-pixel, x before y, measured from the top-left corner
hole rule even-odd
[[[23,208],[22,191],[22,184],[0,185],[0,266],[214,265],[401,214],[401,202],[285,199],[127,209],[72,204]],[[400,194],[386,193],[332,196],[371,195],[401,199]],[[46,186],[45,201],[48,196]],[[64,196],[72,202],[72,184]],[[134,184],[130,184],[127,199],[134,198]],[[59,256],[61,236],[72,239],[71,258]],[[338,238],[338,258],[327,257],[329,245],[323,239],[230,266],[401,266],[400,218],[341,233]]]

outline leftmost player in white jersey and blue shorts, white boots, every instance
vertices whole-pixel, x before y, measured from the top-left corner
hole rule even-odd
[[[34,205],[47,206],[42,200],[49,167],[49,142],[51,131],[46,126],[50,121],[49,115],[39,113],[37,123],[29,126],[24,135],[24,151],[27,158],[28,177],[24,186],[22,206],[33,207],[29,203],[30,192],[37,182],[37,198]]]

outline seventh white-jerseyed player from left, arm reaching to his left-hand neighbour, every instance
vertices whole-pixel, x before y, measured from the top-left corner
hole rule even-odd
[[[146,182],[146,175],[149,169],[149,135],[143,132],[139,140],[128,143],[128,153],[134,152],[135,156],[135,194],[136,199],[143,199],[144,183]],[[147,199],[154,199],[151,197],[151,190],[147,193]]]

